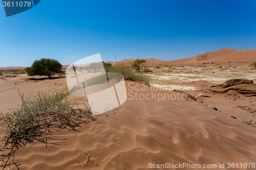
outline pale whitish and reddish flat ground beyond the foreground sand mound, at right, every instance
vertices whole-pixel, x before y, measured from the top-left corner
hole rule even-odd
[[[152,72],[148,72],[147,75],[152,78],[152,85],[159,90],[178,90],[198,96],[197,101],[205,106],[216,107],[229,116],[256,126],[255,96],[248,97],[236,91],[218,94],[204,90],[230,79],[247,79],[256,83],[254,67],[244,63],[241,65],[160,65],[159,68],[151,67],[150,70]]]

